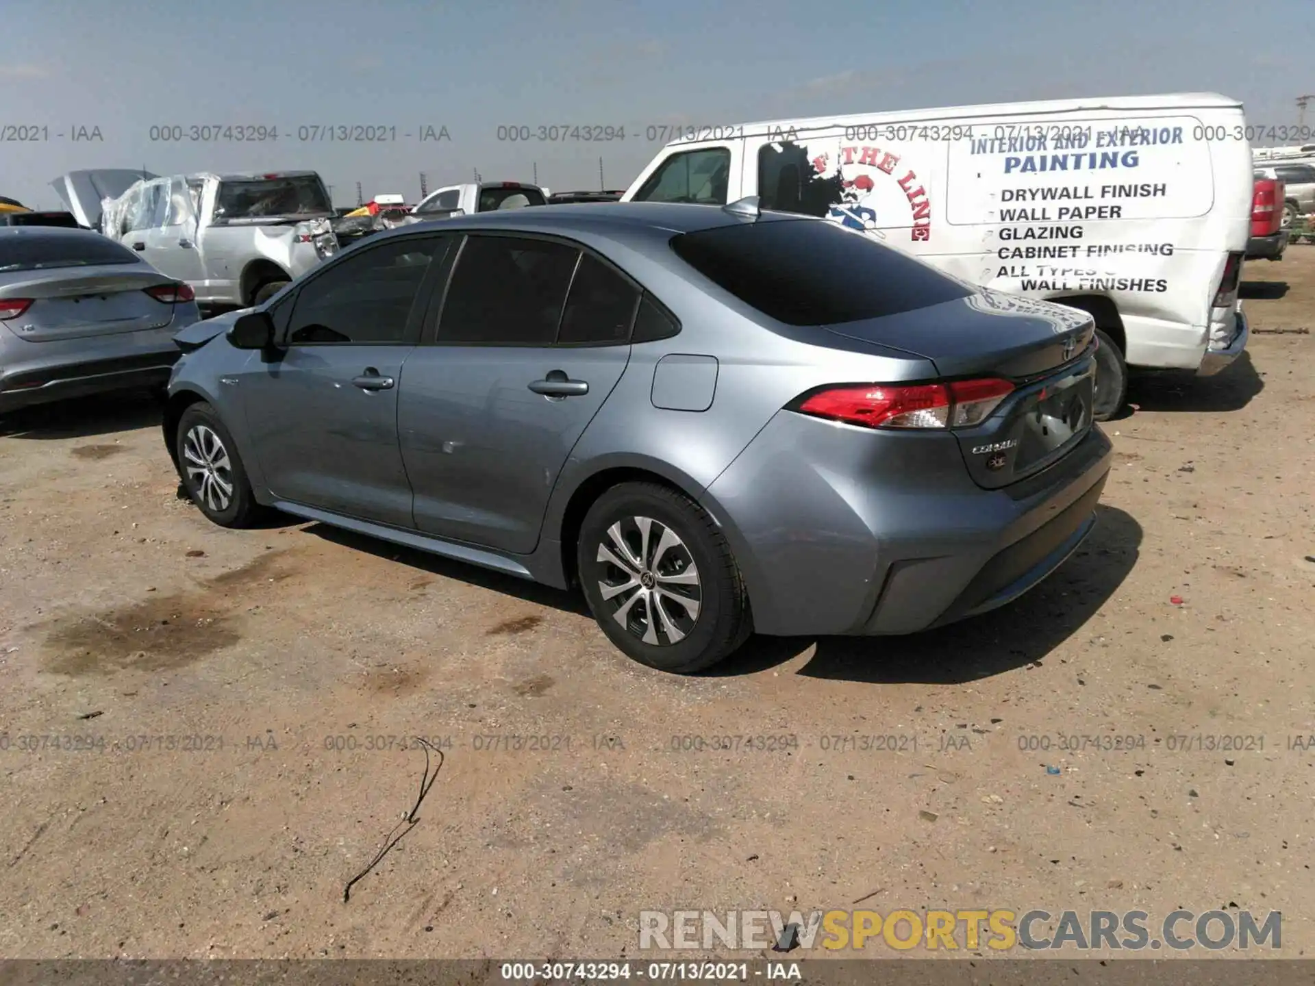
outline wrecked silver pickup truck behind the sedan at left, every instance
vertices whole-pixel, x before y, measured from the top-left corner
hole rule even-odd
[[[53,181],[75,216],[184,281],[208,306],[259,305],[338,252],[333,202],[314,171],[141,177],[91,202],[97,172]],[[120,175],[121,172],[114,172]]]

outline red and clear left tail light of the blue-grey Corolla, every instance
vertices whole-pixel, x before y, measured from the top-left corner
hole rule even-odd
[[[851,384],[805,394],[790,409],[869,429],[953,429],[985,421],[1013,389],[1007,380],[994,379],[914,385]]]

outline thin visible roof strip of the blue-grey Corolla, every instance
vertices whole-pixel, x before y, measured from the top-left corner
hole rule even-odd
[[[763,212],[759,222],[781,220],[810,220],[792,213]],[[684,205],[673,202],[568,202],[564,205],[533,205],[522,209],[498,209],[475,216],[434,220],[433,223],[402,226],[393,233],[437,230],[518,230],[523,233],[590,231],[601,235],[655,233],[697,233],[718,226],[750,222],[714,205]]]

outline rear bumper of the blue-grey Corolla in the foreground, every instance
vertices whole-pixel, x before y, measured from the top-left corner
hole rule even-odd
[[[782,411],[707,490],[760,634],[911,634],[1002,606],[1090,532],[1111,461],[1093,427],[988,490],[952,435],[856,433]]]

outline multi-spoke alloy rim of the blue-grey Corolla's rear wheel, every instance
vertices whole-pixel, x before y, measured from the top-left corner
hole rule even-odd
[[[598,592],[610,615],[654,647],[684,640],[698,622],[702,582],[689,547],[651,517],[613,523],[598,544]]]

